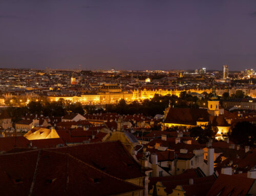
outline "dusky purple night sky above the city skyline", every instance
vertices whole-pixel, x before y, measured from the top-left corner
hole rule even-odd
[[[255,0],[0,0],[0,67],[256,69]]]

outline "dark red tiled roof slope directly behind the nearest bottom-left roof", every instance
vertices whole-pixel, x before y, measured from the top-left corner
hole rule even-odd
[[[123,180],[144,177],[140,165],[119,141],[81,144],[52,150],[69,153],[81,161]]]

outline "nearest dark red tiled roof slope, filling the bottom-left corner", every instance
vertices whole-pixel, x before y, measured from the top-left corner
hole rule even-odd
[[[69,154],[48,150],[1,155],[0,167],[2,195],[100,196],[142,189]]]

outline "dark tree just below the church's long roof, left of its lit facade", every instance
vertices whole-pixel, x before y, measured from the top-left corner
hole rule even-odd
[[[214,138],[214,131],[210,125],[204,127],[195,126],[189,129],[190,136],[197,140],[200,144],[205,144],[209,139]]]

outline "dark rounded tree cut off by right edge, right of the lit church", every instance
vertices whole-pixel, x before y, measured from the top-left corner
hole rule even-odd
[[[230,139],[241,146],[255,146],[256,125],[250,122],[238,122],[229,135]]]

